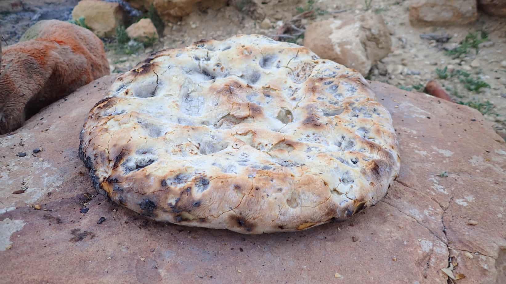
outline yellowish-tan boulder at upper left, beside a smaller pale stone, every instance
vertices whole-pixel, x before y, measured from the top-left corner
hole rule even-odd
[[[118,3],[100,0],[82,0],[72,11],[72,18],[85,18],[85,23],[99,37],[116,34],[116,28],[123,24],[124,14]]]

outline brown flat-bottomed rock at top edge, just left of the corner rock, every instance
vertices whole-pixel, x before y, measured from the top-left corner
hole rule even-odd
[[[413,26],[465,25],[477,19],[476,0],[415,0],[409,6],[409,22]]]

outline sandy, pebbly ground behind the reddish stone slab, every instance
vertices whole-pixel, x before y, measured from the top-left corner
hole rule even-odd
[[[31,12],[23,12],[25,15],[21,15],[22,13],[18,13],[20,15],[0,14],[0,25],[11,27],[7,33],[3,28],[4,37],[7,37],[9,44],[15,43],[33,22],[32,18],[40,20],[55,17],[65,20],[64,18],[69,15],[66,11],[69,11],[69,7],[75,2],[75,0],[52,0],[45,2],[49,4],[38,6],[34,4],[31,6]],[[274,5],[274,2],[278,3]],[[273,36],[277,33],[279,26],[300,13],[299,7],[319,12],[315,13],[316,17],[304,20],[306,25],[312,21],[339,18],[342,14],[335,12],[341,10],[347,10],[344,13],[382,15],[391,30],[392,53],[371,69],[368,79],[387,82],[414,91],[423,90],[419,87],[425,85],[428,80],[439,79],[455,102],[479,108],[488,120],[494,122],[496,132],[506,138],[506,18],[480,14],[479,20],[469,26],[414,28],[409,24],[408,19],[409,1],[373,0],[371,5],[366,7],[363,1],[320,0],[309,7],[307,1],[271,0],[265,12],[266,18],[272,25],[271,28],[266,29],[261,28],[261,21],[255,19],[254,15],[238,12],[233,7],[197,10],[181,22],[168,23],[160,40],[150,48],[142,49],[132,55],[109,49],[107,55],[111,72],[128,71],[153,51],[181,48],[199,39],[223,39],[241,33]],[[55,11],[55,9],[61,12],[48,11]],[[38,18],[36,15],[39,15]],[[480,44],[478,54],[475,50],[470,50],[467,55],[461,55],[458,58],[446,54],[445,49],[454,48],[469,33],[480,34],[481,31],[488,34],[488,40]],[[420,34],[447,34],[451,38],[443,43],[420,38]],[[297,42],[302,44],[302,39],[299,38]],[[439,78],[436,70],[445,68],[447,78],[444,78],[444,74],[442,75],[444,79]],[[451,76],[452,71],[453,76]],[[469,75],[468,77],[458,75],[462,73]],[[483,87],[479,91],[468,90],[466,83],[461,82],[466,78],[475,81],[482,80],[490,87]]]

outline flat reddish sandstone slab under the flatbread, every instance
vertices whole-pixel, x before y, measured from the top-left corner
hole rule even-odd
[[[506,283],[506,146],[476,110],[372,82],[401,148],[388,196],[343,223],[242,235],[157,223],[96,196],[79,131],[114,78],[0,137],[0,282],[447,283],[451,256],[458,283]]]

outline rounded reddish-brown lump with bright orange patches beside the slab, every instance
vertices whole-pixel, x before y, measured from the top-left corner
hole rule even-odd
[[[41,108],[109,74],[102,41],[88,29],[40,21],[0,57],[0,134]]]

